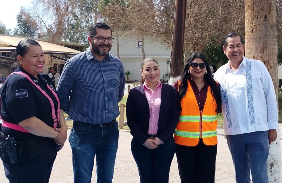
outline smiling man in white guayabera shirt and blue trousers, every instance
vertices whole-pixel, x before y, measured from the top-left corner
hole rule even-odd
[[[270,74],[259,60],[244,57],[243,38],[226,35],[223,45],[228,63],[215,72],[221,84],[224,132],[232,155],[236,182],[268,182],[268,143],[277,137],[278,111]]]

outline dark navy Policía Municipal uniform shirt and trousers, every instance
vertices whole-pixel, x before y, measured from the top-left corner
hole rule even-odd
[[[58,101],[55,95],[47,88],[48,84],[54,90],[54,85],[50,77],[46,74],[39,74],[38,79],[36,79],[22,68],[18,68],[16,71],[21,71],[29,75],[34,83],[49,95],[54,102],[57,116]],[[49,99],[23,75],[10,75],[1,87],[0,94],[0,113],[4,121],[18,124],[27,118],[35,116],[48,126],[54,128]],[[23,144],[22,148],[24,149],[23,155],[18,157],[21,162],[17,164],[11,164],[8,154],[0,149],[0,157],[4,164],[5,175],[9,181],[12,183],[49,182],[51,169],[57,155],[54,140],[3,126],[2,132],[6,136],[10,135],[10,137],[14,137],[16,141]]]

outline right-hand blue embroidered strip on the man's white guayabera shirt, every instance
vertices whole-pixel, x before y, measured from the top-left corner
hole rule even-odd
[[[252,72],[251,62],[247,61],[246,68],[247,94],[248,94],[248,109],[251,125],[255,123],[254,106],[253,106],[253,87],[252,87]]]

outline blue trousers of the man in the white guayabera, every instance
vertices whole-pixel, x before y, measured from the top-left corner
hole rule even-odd
[[[227,135],[227,144],[235,167],[236,182],[250,183],[251,170],[254,183],[268,183],[268,131]]]

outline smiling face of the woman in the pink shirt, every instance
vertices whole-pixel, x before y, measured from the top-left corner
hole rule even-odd
[[[160,77],[160,69],[158,63],[154,61],[145,63],[143,70],[141,70],[140,73],[145,78],[147,85],[157,83]]]

